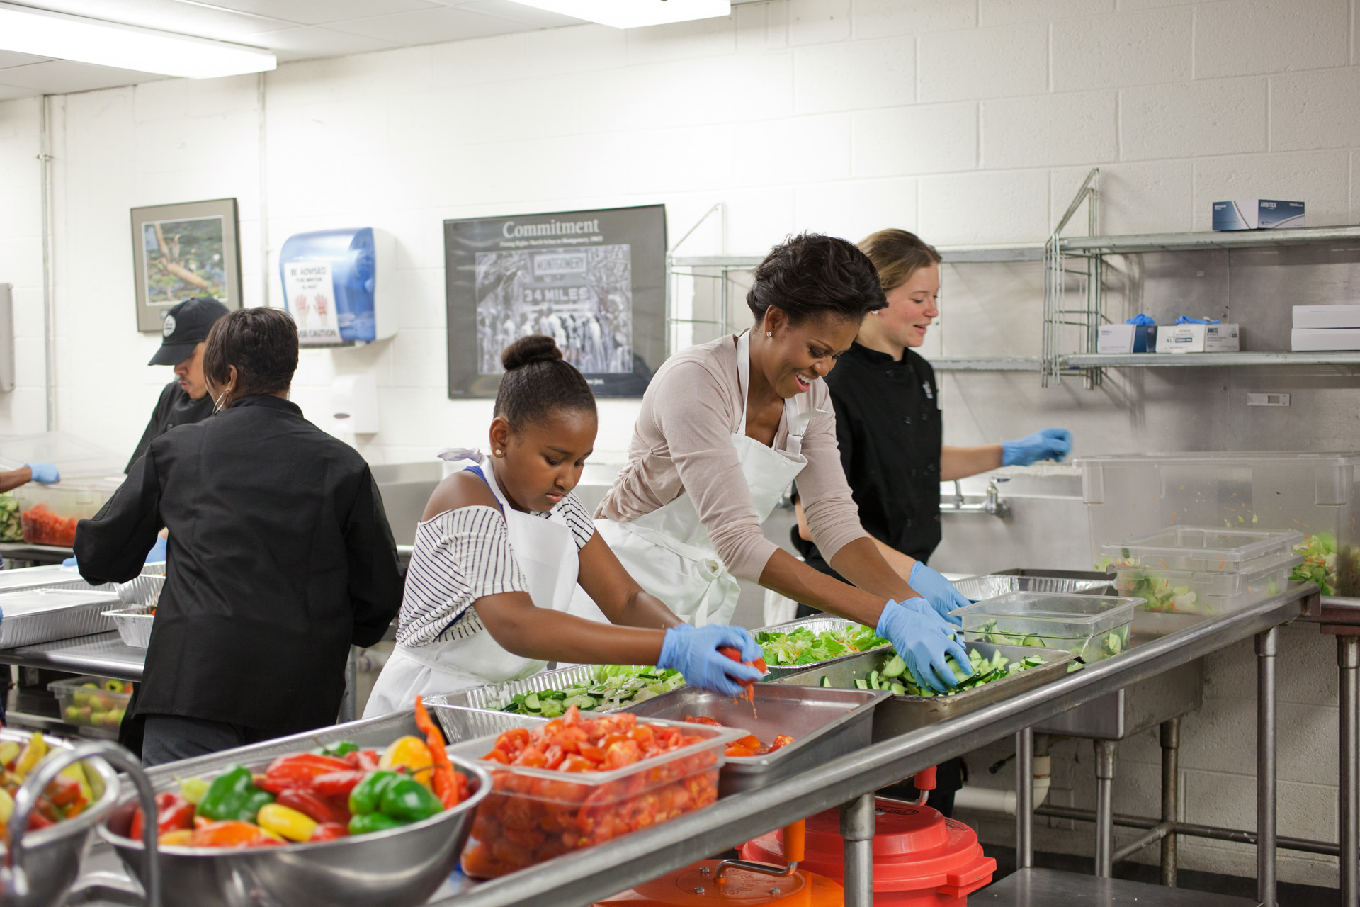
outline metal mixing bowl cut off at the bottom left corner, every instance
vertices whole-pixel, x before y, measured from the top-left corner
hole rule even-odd
[[[31,736],[24,730],[0,729],[0,741],[26,744]],[[72,748],[71,742],[60,737],[42,737],[52,748]],[[69,821],[23,835],[27,892],[18,895],[12,889],[0,888],[0,907],[52,907],[65,900],[80,873],[80,859],[90,843],[90,832],[118,804],[118,775],[109,763],[91,757],[84,760],[84,767],[95,802]]]

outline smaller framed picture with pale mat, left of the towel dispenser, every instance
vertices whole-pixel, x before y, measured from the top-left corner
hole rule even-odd
[[[194,296],[239,309],[238,234],[235,199],[133,208],[137,330],[160,333],[166,311]]]

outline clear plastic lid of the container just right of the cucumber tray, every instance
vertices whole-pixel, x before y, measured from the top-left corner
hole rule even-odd
[[[1008,634],[1081,639],[1129,623],[1140,604],[1142,598],[1119,596],[1012,592],[949,613],[963,621],[966,631],[994,623],[997,630]]]

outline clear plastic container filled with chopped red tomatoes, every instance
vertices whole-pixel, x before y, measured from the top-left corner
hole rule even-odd
[[[462,851],[462,872],[492,878],[582,850],[707,806],[718,798],[728,742],[745,730],[653,719],[702,737],[664,756],[615,771],[549,771],[481,760],[495,737],[480,737],[452,755],[479,760],[494,793],[477,808]]]

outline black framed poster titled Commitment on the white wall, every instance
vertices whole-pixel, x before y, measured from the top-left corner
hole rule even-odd
[[[597,397],[641,397],[665,359],[665,205],[445,220],[443,256],[452,400],[495,397],[530,333]]]

